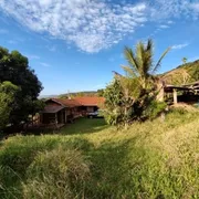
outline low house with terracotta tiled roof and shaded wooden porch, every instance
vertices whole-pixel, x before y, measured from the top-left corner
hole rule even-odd
[[[75,118],[86,116],[95,112],[105,102],[104,97],[75,97],[50,98],[45,101],[45,107],[40,112],[40,123],[43,125],[63,126]]]

